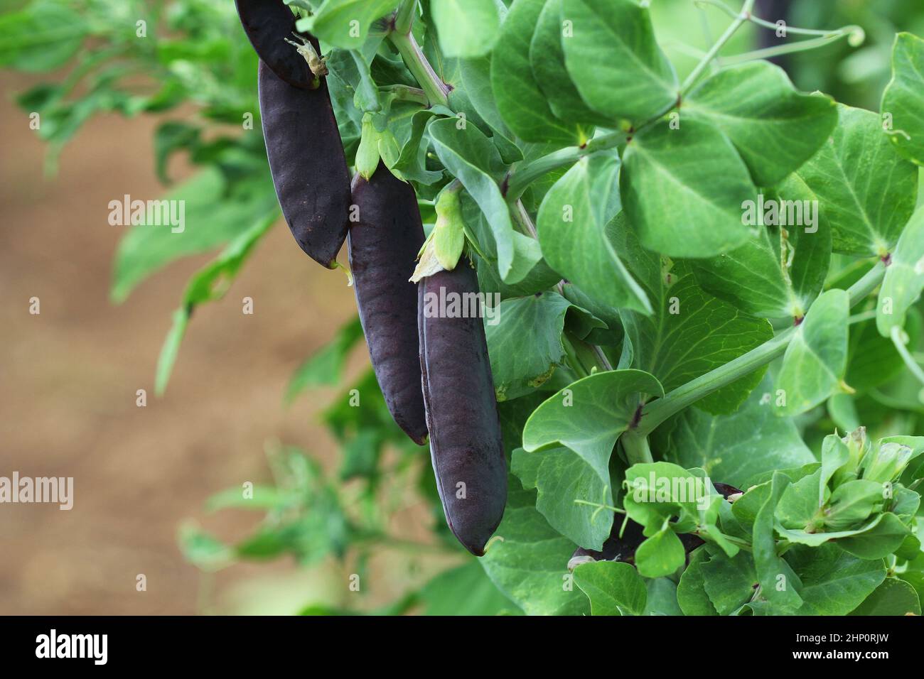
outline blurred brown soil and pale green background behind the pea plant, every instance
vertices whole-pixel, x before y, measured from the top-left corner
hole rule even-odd
[[[14,5],[23,3],[0,9]],[[717,35],[727,21],[713,11],[700,31],[699,10],[687,0],[652,5],[659,37],[681,71],[695,59],[677,45],[702,49],[708,30]],[[894,30],[924,33],[919,0],[764,3],[764,16],[787,5],[792,22],[803,26],[864,26],[864,47],[842,41],[794,57],[787,68],[803,89],[872,109],[888,79]],[[730,49],[760,44],[753,31],[742,35]],[[340,464],[341,451],[319,422],[336,390],[313,390],[288,406],[284,394],[293,370],[353,317],[346,277],[314,265],[277,224],[226,297],[197,309],[169,387],[155,398],[172,313],[189,276],[212,255],[172,263],[115,305],[113,258],[126,227],[107,224],[107,203],[162,194],[154,130],[166,118],[191,120],[197,112],[96,115],[49,175],[46,145],[14,95],[66,73],[0,68],[0,475],[75,478],[69,512],[0,506],[0,613],[295,613],[312,602],[346,605],[355,570],[349,560],[328,557],[306,568],[282,558],[209,573],[189,564],[177,544],[189,521],[229,542],[253,530],[253,513],[208,512],[204,503],[245,481],[267,482],[268,447],[294,445],[322,467]],[[185,158],[171,160],[176,179],[192,173]],[[30,315],[30,297],[40,298],[40,315]],[[252,315],[241,312],[242,297],[253,298]],[[356,378],[365,364],[360,346],[347,375]],[[145,407],[136,406],[138,389],[148,392]],[[415,491],[399,491],[390,530],[428,544],[432,515]],[[359,608],[394,600],[460,563],[454,552],[397,547],[377,551],[364,566],[371,585]],[[145,591],[136,589],[139,574]]]

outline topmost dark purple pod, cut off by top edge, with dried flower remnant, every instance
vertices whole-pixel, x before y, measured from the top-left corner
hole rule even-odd
[[[286,3],[283,0],[235,0],[235,4],[244,32],[260,60],[289,85],[301,89],[313,87],[314,76],[308,63],[286,42],[286,38],[298,42],[292,35],[296,32],[296,17]],[[305,33],[301,35],[309,37]],[[318,50],[318,41],[310,40]]]

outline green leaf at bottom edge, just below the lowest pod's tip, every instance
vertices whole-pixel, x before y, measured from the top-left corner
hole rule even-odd
[[[535,494],[517,490],[511,479],[504,520],[479,560],[494,585],[528,615],[580,615],[590,612],[586,597],[566,588],[567,563],[575,545],[536,511]]]

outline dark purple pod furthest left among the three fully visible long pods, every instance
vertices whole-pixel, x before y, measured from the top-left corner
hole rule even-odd
[[[301,249],[334,268],[346,239],[350,186],[327,83],[298,90],[261,61],[259,85],[263,139],[283,216]]]

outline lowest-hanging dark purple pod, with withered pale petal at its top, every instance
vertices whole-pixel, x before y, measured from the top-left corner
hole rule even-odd
[[[478,293],[478,275],[463,258],[456,269],[434,273],[418,288],[423,403],[436,487],[450,530],[481,556],[504,516],[507,463],[484,325],[472,314],[480,310],[471,297]]]

